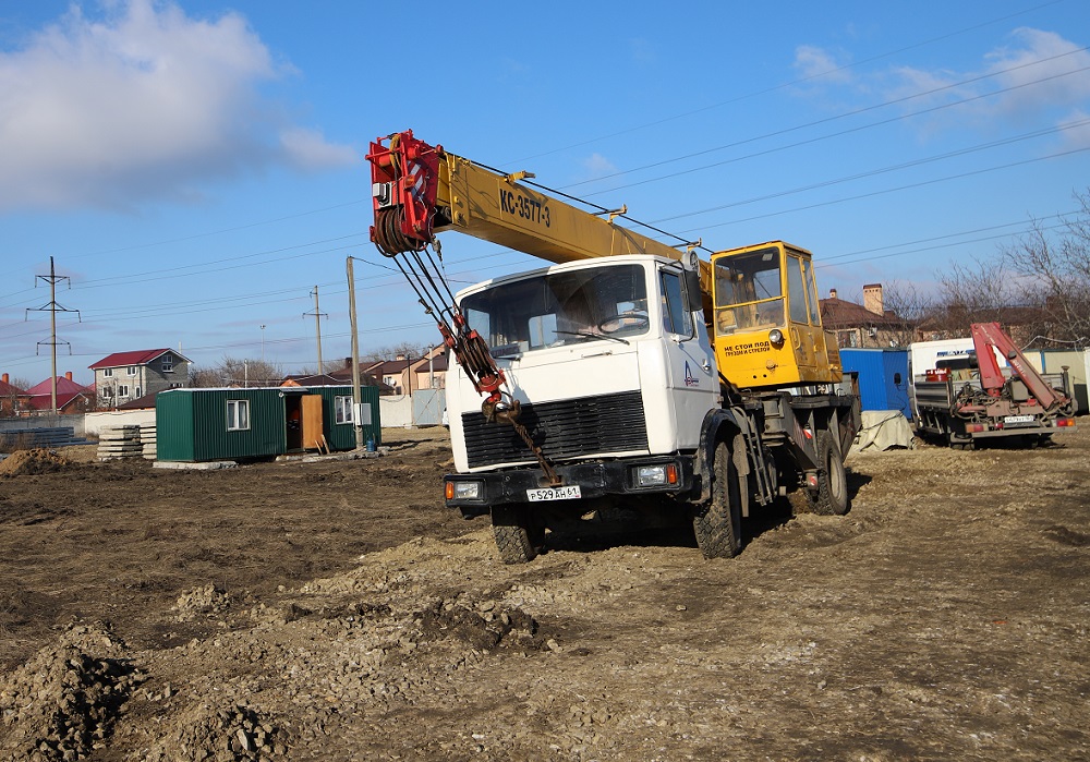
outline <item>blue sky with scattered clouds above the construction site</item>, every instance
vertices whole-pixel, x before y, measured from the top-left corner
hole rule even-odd
[[[347,356],[349,255],[363,351],[437,340],[367,239],[363,155],[410,128],[713,250],[786,239],[822,292],[927,290],[1076,208],[1087,46],[1085,0],[7,0],[0,371],[49,375],[50,256],[83,383],[157,347],[313,366],[315,286]],[[444,255],[456,287],[541,264]]]

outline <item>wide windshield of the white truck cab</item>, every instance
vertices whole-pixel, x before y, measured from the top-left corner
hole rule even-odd
[[[590,267],[501,283],[465,297],[462,312],[495,356],[644,334],[647,288],[639,265]]]

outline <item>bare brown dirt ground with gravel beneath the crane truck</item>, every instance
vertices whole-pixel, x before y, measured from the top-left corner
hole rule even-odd
[[[443,430],[0,463],[0,759],[1090,759],[1080,423],[852,455],[847,516],[780,508],[717,561],[589,532],[504,566],[443,507]]]

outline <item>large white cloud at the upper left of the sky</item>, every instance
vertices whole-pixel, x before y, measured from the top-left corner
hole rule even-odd
[[[0,210],[124,208],[269,166],[356,160],[262,98],[287,73],[234,13],[111,0],[93,20],[73,7],[0,52]]]

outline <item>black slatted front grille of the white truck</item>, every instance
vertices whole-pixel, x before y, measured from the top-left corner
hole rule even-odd
[[[552,460],[647,449],[643,398],[638,390],[524,404],[519,423]],[[470,468],[537,462],[507,424],[487,423],[479,412],[463,413],[462,430]]]

